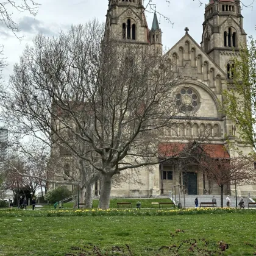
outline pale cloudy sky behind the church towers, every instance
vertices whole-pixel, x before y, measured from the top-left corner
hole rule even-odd
[[[146,0],[144,0],[146,1]],[[244,0],[249,4],[252,0]],[[14,20],[20,24],[21,32],[15,37],[4,24],[0,24],[0,44],[4,46],[4,57],[8,66],[2,71],[5,82],[12,74],[13,65],[19,58],[26,44],[31,44],[32,39],[40,32],[49,37],[57,36],[60,30],[67,30],[72,24],[86,23],[93,18],[105,22],[108,9],[108,0],[37,0],[41,5],[37,16],[29,13],[15,13]],[[171,23],[158,15],[162,29],[162,43],[164,48],[171,48],[185,34],[185,27],[190,29],[189,34],[201,43],[202,23],[204,22],[204,7],[208,0],[152,0],[156,4],[157,12],[169,18]],[[169,2],[169,3],[168,3]],[[256,40],[256,3],[254,8],[243,8],[244,30],[247,35],[254,36]],[[151,28],[153,13],[146,12],[149,28]],[[172,24],[174,23],[174,24]]]

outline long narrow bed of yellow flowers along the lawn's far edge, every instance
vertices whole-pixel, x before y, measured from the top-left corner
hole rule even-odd
[[[255,213],[255,210],[240,210],[236,208],[187,208],[173,210],[137,210],[137,209],[78,209],[78,210],[0,210],[1,217],[55,217],[55,216],[172,216],[172,215],[199,215],[199,214],[225,214],[225,213]]]

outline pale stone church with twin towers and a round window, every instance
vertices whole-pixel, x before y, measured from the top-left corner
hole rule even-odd
[[[201,43],[197,43],[185,28],[180,38],[165,56],[174,63],[174,72],[182,74],[177,85],[174,104],[180,99],[194,114],[190,122],[179,124],[176,130],[165,130],[161,135],[170,145],[182,148],[199,133],[209,134],[207,146],[213,158],[233,158],[238,154],[229,149],[227,138],[244,154],[252,149],[237,137],[236,126],[221,113],[219,102],[222,91],[232,82],[232,58],[239,55],[241,44],[246,44],[240,0],[210,0],[205,6]],[[162,52],[162,37],[157,13],[149,29],[144,15],[143,0],[109,0],[105,32],[119,38],[120,44],[148,46]],[[163,34],[162,34],[163,33]],[[130,173],[132,175],[132,171]],[[220,194],[220,188],[207,180],[196,165],[177,169],[169,163],[150,166],[139,172],[140,185],[127,179],[112,188],[112,196],[154,196],[169,194],[175,185],[182,184],[186,194]],[[142,185],[141,185],[142,184]],[[234,188],[230,187],[231,192]],[[246,196],[254,186],[240,186],[238,193]]]

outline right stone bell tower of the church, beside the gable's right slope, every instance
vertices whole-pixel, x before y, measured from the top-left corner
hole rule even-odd
[[[231,60],[246,44],[240,0],[210,0],[205,5],[201,47],[230,77]]]

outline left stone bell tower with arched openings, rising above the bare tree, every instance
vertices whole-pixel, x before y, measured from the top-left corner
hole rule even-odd
[[[126,43],[149,44],[149,29],[142,1],[109,0],[105,34]]]

